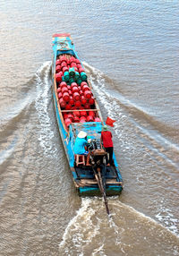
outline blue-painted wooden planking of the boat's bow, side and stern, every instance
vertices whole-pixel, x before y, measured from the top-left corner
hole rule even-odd
[[[76,170],[76,166],[74,165],[73,145],[74,145],[76,135],[81,130],[84,132],[87,132],[87,134],[91,137],[91,139],[100,139],[100,132],[102,130],[102,126],[104,125],[104,123],[103,124],[102,122],[74,123],[74,124],[70,124],[69,130],[66,130],[66,127],[64,125],[63,115],[57,103],[58,98],[56,94],[56,83],[55,83],[55,60],[57,55],[70,54],[70,55],[74,55],[76,58],[78,58],[78,55],[74,49],[72,39],[69,34],[55,35],[55,37],[53,38],[53,51],[54,51],[54,57],[53,57],[53,64],[52,64],[52,79],[54,84],[52,89],[53,89],[53,99],[54,99],[54,106],[55,106],[55,115],[56,115],[59,132],[64,144],[66,157],[68,159],[69,166],[72,171],[72,178],[80,195],[98,195],[99,194],[98,185],[91,185],[91,186],[79,185],[80,179],[78,176],[78,172]],[[116,182],[122,183],[123,180],[117,165],[115,153],[113,155],[113,158],[114,158],[115,170],[117,175]],[[89,174],[85,175],[85,172],[84,172],[84,175],[82,177],[88,178]],[[92,176],[90,178],[92,178]],[[122,184],[107,185],[107,195],[116,195],[116,194],[119,194],[122,190],[123,190]]]

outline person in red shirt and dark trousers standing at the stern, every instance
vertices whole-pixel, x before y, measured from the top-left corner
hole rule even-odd
[[[101,141],[103,142],[103,146],[106,149],[107,153],[109,153],[109,162],[107,158],[107,166],[113,164],[113,135],[110,131],[107,131],[107,125],[103,126],[103,131],[101,132]]]

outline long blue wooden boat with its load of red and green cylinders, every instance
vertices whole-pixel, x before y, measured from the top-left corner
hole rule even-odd
[[[53,51],[55,114],[75,187],[81,196],[101,195],[97,177],[99,174],[97,172],[101,172],[107,195],[118,195],[123,190],[122,176],[115,153],[114,166],[106,166],[105,154],[103,152],[101,155],[102,151],[99,152],[100,136],[105,122],[70,34],[55,34]],[[81,131],[86,132],[87,138],[92,141],[88,146],[89,149],[92,147],[90,149],[93,152],[90,155],[92,166],[77,166],[75,162],[73,147]]]

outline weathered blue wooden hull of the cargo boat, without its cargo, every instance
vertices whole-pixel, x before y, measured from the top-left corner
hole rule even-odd
[[[65,44],[64,44],[65,42]],[[92,168],[89,166],[76,166],[75,155],[73,152],[73,146],[75,138],[81,130],[87,132],[90,135],[91,139],[100,139],[100,132],[104,122],[102,121],[102,116],[98,107],[97,102],[95,103],[98,108],[98,116],[101,119],[101,122],[86,122],[86,123],[72,123],[67,128],[64,124],[64,117],[62,108],[59,105],[57,97],[57,85],[55,81],[55,61],[56,57],[59,55],[73,55],[75,58],[78,58],[77,53],[74,50],[72,44],[72,39],[69,34],[56,34],[53,37],[53,66],[52,66],[52,80],[53,80],[53,99],[55,107],[55,115],[59,128],[59,132],[64,144],[64,150],[68,163],[72,172],[72,179],[74,185],[81,196],[100,196],[100,190],[98,188],[98,183],[95,179]],[[92,90],[92,89],[91,89]],[[114,166],[107,166],[106,168],[106,194],[107,196],[119,195],[123,190],[123,180],[120,174],[116,159],[115,153],[113,154]],[[103,166],[102,166],[103,167]]]

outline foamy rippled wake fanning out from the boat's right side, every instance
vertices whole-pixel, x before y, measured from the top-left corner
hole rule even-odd
[[[90,75],[93,89],[97,92],[96,95],[99,98],[99,103],[102,104],[102,112],[104,111],[106,116],[108,115],[116,120],[114,132],[118,145],[120,145],[120,154],[123,154],[124,161],[129,162],[130,159],[132,163],[132,173],[134,176],[132,177],[131,174],[130,180],[134,178],[138,185],[152,182],[161,191],[163,190],[161,185],[168,180],[173,184],[172,190],[175,196],[179,189],[177,183],[178,160],[174,157],[179,153],[178,145],[166,139],[162,132],[157,129],[157,126],[161,127],[162,124],[158,125],[158,121],[148,111],[141,109],[141,107],[124,98],[117,90],[115,90],[115,93],[113,90],[109,90],[108,88],[111,86],[107,87],[107,83],[110,82],[110,85],[113,85],[113,81],[110,81],[104,73],[90,66],[90,64],[84,63],[84,65]],[[138,118],[141,116],[141,120],[139,121],[136,116]],[[167,130],[167,127],[165,129]],[[137,140],[139,141],[139,146],[137,146]],[[155,173],[153,173],[154,181],[152,181],[152,176],[149,175],[151,171],[147,166],[141,166],[143,159],[141,162],[138,162],[138,168],[141,171],[135,170],[133,165],[138,155],[137,151],[139,151],[139,159],[141,159],[142,154],[143,159],[146,159],[147,163],[149,162],[149,166],[155,166],[153,167],[155,169]],[[127,159],[125,159],[126,157]],[[162,168],[161,164],[166,166],[166,168]],[[144,180],[145,176],[146,180]],[[157,180],[155,180],[155,176],[158,177]],[[143,182],[141,183],[141,181]],[[133,184],[131,185],[133,186]],[[172,191],[170,192],[172,193]],[[152,193],[155,196],[153,191]],[[158,189],[156,196],[158,197]],[[151,203],[154,204],[154,202]],[[158,197],[157,204],[158,207],[154,213],[154,218],[174,234],[178,234],[179,221],[176,218],[177,213],[174,214],[174,210],[170,209],[171,205],[166,204],[162,194],[161,200]],[[156,206],[153,207],[155,209]]]

